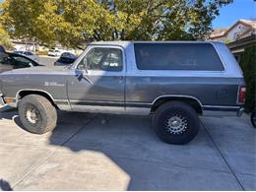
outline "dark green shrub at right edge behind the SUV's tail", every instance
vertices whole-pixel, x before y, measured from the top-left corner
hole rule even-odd
[[[246,47],[241,55],[240,67],[246,82],[245,111],[255,107],[256,100],[256,44]]]

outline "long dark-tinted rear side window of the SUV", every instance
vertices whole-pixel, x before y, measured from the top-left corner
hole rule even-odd
[[[224,71],[210,43],[134,43],[140,70]]]

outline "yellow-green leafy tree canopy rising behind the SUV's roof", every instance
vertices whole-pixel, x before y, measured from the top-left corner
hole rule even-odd
[[[231,0],[5,0],[11,35],[78,47],[91,40],[202,39]]]

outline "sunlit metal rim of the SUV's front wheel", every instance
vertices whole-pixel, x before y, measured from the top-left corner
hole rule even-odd
[[[41,118],[37,107],[31,103],[27,104],[25,108],[25,118],[32,127],[36,127],[39,124]]]

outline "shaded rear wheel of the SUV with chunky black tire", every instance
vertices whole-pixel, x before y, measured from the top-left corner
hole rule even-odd
[[[176,121],[177,117],[181,121]],[[172,124],[175,122],[181,122],[182,131],[181,128],[176,129],[176,124]],[[153,117],[153,126],[160,140],[181,145],[190,142],[197,135],[200,123],[196,111],[190,105],[181,101],[169,101],[157,109]]]

